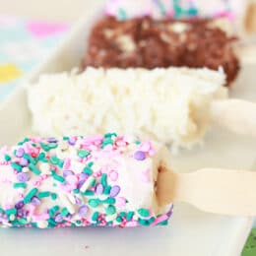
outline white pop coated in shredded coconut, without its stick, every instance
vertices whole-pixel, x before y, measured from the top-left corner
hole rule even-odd
[[[88,68],[43,75],[28,88],[32,128],[47,136],[108,131],[190,147],[209,127],[210,104],[227,96],[222,70]]]

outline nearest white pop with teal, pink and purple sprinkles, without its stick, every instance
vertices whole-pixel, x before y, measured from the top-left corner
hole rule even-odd
[[[25,138],[0,149],[0,224],[5,227],[167,224],[158,167],[166,149],[115,133]]]

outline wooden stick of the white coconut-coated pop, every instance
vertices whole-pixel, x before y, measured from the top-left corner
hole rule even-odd
[[[256,103],[242,99],[216,100],[211,104],[211,119],[232,132],[256,137]]]

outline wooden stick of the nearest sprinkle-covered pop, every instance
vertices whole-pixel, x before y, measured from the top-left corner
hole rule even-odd
[[[162,166],[157,197],[160,206],[180,201],[214,214],[256,216],[256,172],[204,168],[174,173]]]

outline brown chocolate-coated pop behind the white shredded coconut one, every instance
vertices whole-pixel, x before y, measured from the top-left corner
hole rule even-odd
[[[213,20],[160,20],[150,17],[117,21],[104,17],[93,28],[82,68],[208,67],[224,68],[226,82],[239,72],[233,50],[236,38],[214,26]]]

